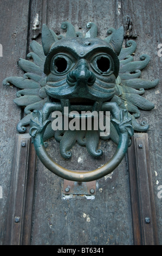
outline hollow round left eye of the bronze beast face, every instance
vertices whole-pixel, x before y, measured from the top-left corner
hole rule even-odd
[[[66,74],[73,66],[72,60],[63,54],[58,54],[51,59],[51,72],[55,75]]]

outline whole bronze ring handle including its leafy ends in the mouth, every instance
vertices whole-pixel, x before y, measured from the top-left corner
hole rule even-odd
[[[46,166],[51,172],[60,176],[63,179],[78,181],[78,182],[87,182],[93,181],[102,178],[103,176],[111,173],[121,162],[123,157],[126,154],[130,135],[132,136],[133,128],[131,125],[131,119],[127,117],[127,112],[119,109],[119,107],[113,103],[103,103],[103,109],[111,109],[111,114],[113,116],[113,123],[116,125],[116,130],[119,134],[119,143],[113,157],[102,167],[85,171],[85,172],[75,172],[61,167],[59,164],[54,162],[53,159],[48,155],[46,148],[44,147],[43,142],[43,133],[49,123],[49,120],[45,119],[43,123],[43,114],[47,117],[49,115],[49,109],[53,108],[53,105],[48,103],[43,109],[43,111],[35,111],[34,117],[31,119],[31,128],[30,135],[33,138],[34,147],[36,154],[41,162]],[[104,105],[105,104],[105,105]]]

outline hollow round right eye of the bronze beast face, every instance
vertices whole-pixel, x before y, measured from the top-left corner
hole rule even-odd
[[[92,60],[93,69],[100,75],[110,75],[113,73],[113,60],[108,54],[99,54]]]

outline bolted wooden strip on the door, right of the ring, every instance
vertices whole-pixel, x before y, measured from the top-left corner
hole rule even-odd
[[[157,223],[153,196],[148,136],[135,133],[128,149],[134,245],[157,245]],[[149,218],[149,223],[146,223]]]

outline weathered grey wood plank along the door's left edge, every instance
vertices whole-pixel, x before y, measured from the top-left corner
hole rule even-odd
[[[3,198],[0,199],[1,245],[4,244],[7,226],[16,125],[21,119],[21,109],[13,102],[17,89],[2,86],[2,81],[7,76],[23,75],[17,61],[26,57],[29,2],[3,1],[3,7],[0,8],[0,44],[3,46],[3,57],[0,57],[0,186],[3,189]]]

